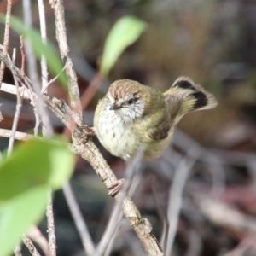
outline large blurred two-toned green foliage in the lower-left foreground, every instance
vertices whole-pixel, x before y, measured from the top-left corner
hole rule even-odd
[[[22,233],[44,215],[47,190],[73,172],[67,143],[33,139],[0,161],[0,255],[9,255]]]

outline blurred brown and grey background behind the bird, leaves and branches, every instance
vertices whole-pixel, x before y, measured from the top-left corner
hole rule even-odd
[[[1,12],[5,11],[4,2],[0,3]],[[239,247],[252,234],[212,224],[202,216],[200,209],[192,206],[190,195],[194,191],[191,187],[194,188],[195,184],[197,191],[207,193],[212,188],[213,176],[216,175],[217,180],[224,176],[223,187],[219,190],[222,191],[219,192],[220,199],[251,217],[256,214],[253,187],[256,182],[256,159],[250,158],[256,149],[256,3],[250,0],[64,0],[64,5],[67,37],[81,94],[98,70],[104,42],[113,24],[124,15],[137,16],[147,23],[145,32],[119,57],[84,111],[87,125],[92,125],[96,102],[116,79],[135,79],[164,91],[178,76],[184,75],[218,98],[218,108],[189,113],[178,125],[189,137],[218,154],[224,160],[224,168],[218,170],[222,174],[216,174],[217,171],[212,174],[211,168],[202,160],[198,160],[192,168],[184,191],[184,206],[173,255],[225,255],[234,247]],[[45,12],[49,40],[56,44],[53,9],[47,3]],[[20,1],[16,1],[13,14],[22,18]],[[39,27],[36,1],[32,1],[32,15],[34,26]],[[3,31],[3,25],[0,31]],[[0,36],[3,37],[3,33]],[[11,32],[9,49],[18,48],[19,45],[18,36]],[[16,63],[20,63],[20,60],[17,59]],[[3,81],[12,83],[8,71]],[[67,100],[66,92],[57,82],[49,87],[49,93]],[[3,103],[1,111],[4,117],[1,127],[10,128],[15,113],[15,97],[1,92],[0,101]],[[27,103],[22,109],[19,131],[31,131],[33,122],[32,108]],[[52,122],[55,131],[63,130],[54,117]],[[190,142],[189,139],[185,141]],[[6,140],[0,138],[0,147],[4,148],[5,145]],[[122,177],[124,162],[108,154],[102,147],[101,150],[113,170]],[[186,154],[186,149],[182,148],[179,153]],[[157,236],[160,236],[162,222],[155,206],[153,190],[158,190],[158,196],[166,202],[163,203],[166,207],[168,190],[177,166],[175,160],[164,163],[166,157],[171,158],[170,151],[150,165],[143,164],[143,179],[133,196],[137,207],[154,225]],[[162,166],[168,166],[170,172],[166,172]],[[106,196],[91,167],[79,158],[72,185],[93,239],[98,241],[113,201]],[[61,191],[55,195],[55,222],[58,255],[84,255]],[[112,255],[138,255],[135,253],[137,251],[133,251],[140,247],[137,238],[131,230],[127,230],[129,228],[124,225],[119,231],[122,236],[116,240]],[[189,254],[189,239],[194,237],[194,231],[200,249],[197,253]],[[255,255],[255,247],[249,249],[247,253],[237,255]]]

